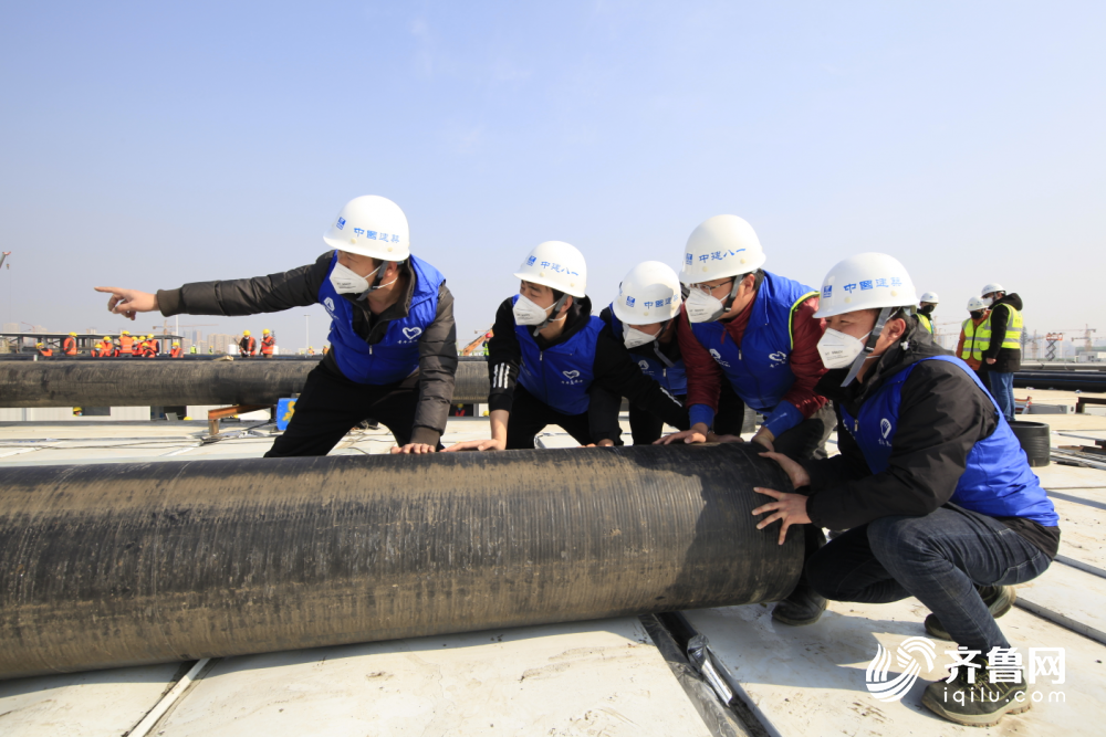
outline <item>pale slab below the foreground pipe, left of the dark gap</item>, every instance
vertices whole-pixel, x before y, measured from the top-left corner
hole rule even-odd
[[[228,659],[153,734],[710,733],[626,618]]]

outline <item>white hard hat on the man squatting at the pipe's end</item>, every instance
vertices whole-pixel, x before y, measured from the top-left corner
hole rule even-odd
[[[886,253],[858,253],[830,270],[822,282],[815,317],[833,317],[857,309],[912,307],[918,293],[906,267]]]

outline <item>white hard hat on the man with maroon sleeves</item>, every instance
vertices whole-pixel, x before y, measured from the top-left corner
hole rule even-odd
[[[714,215],[691,231],[680,281],[699,284],[748,274],[763,265],[764,249],[753,227],[737,215]]]

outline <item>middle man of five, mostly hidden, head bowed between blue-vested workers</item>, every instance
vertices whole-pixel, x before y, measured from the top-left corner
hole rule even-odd
[[[659,261],[646,261],[630,270],[618,285],[618,296],[599,313],[616,340],[620,340],[646,376],[655,379],[669,394],[684,401],[687,376],[680,343],[676,337],[676,318],[687,287],[671,266]],[[592,390],[592,401],[608,401],[615,417],[622,396],[604,398],[602,388]],[[719,397],[719,415],[714,419],[719,434],[740,434],[744,419],[741,401],[728,387]],[[615,420],[617,421],[617,420]],[[648,445],[660,439],[664,419],[636,403],[629,406],[629,429],[635,445]]]

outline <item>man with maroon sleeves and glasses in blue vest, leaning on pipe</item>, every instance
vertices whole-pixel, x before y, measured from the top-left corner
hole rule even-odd
[[[761,269],[764,249],[757,232],[737,215],[717,215],[688,238],[680,281],[691,287],[677,336],[687,367],[691,429],[660,442],[740,442],[712,427],[721,387],[729,385],[748,407],[764,415],[753,442],[794,460],[825,455],[833,409],[814,387],[825,373],[817,344],[825,329],[814,313],[818,293]],[[804,530],[806,556],[825,544],[818,528]],[[772,609],[784,624],[816,622],[826,600],[800,578]]]

